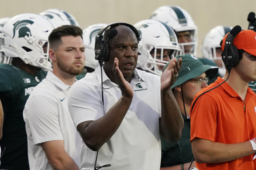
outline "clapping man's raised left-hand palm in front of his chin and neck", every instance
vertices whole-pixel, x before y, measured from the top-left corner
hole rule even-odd
[[[122,96],[125,97],[133,97],[133,88],[131,87],[131,84],[123,78],[122,72],[119,70],[118,67],[119,61],[117,58],[114,60],[113,64],[113,73],[115,75],[115,80],[117,82],[117,85],[119,86]]]

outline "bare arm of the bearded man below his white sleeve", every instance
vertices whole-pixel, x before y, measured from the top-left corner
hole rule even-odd
[[[54,169],[79,170],[77,164],[65,151],[63,140],[43,142],[39,145],[43,148],[50,165]]]

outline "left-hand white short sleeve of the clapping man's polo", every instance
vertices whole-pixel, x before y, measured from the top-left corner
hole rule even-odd
[[[84,121],[94,121],[103,116],[102,100],[99,94],[101,89],[97,85],[90,87],[84,82],[76,82],[70,88],[68,109],[75,127]]]

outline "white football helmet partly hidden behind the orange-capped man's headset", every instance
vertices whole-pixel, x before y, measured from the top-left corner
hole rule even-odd
[[[201,46],[201,52],[203,55],[203,58],[207,58],[209,60],[213,60],[218,64],[219,67],[219,73],[221,75],[224,75],[226,72],[226,67],[224,63],[222,62],[221,55],[216,55],[216,48],[219,48],[219,51],[221,52],[221,46],[219,45],[220,41],[223,39],[223,37],[230,32],[232,27],[230,26],[223,26],[218,25],[214,27],[213,29],[208,32],[204,39]],[[221,61],[217,61],[221,60]],[[222,67],[221,67],[222,65]]]

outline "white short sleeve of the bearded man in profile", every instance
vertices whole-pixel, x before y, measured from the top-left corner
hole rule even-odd
[[[31,130],[34,145],[63,140],[58,115],[58,104],[50,97],[33,96],[27,101],[23,116]]]

